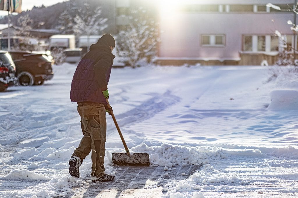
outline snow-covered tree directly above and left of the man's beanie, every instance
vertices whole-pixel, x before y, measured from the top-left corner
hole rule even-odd
[[[95,8],[93,11],[90,8],[90,4],[85,3],[84,7],[79,10],[79,14],[76,15],[73,26],[73,31],[77,36],[86,35],[89,43],[89,36],[101,35],[103,31],[108,27],[106,22],[107,18],[101,17],[102,11],[100,7]]]

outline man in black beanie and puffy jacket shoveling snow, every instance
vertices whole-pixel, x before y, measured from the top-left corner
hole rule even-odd
[[[111,34],[104,34],[90,51],[82,58],[72,79],[70,99],[77,102],[77,111],[81,117],[83,138],[69,160],[69,173],[80,177],[79,167],[83,159],[91,153],[91,180],[112,181],[115,175],[105,173],[105,112],[111,114],[107,106],[108,81],[115,56],[112,51],[115,39]]]

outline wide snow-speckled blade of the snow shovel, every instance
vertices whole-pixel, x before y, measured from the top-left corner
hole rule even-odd
[[[126,153],[112,153],[112,160],[114,164],[118,165],[150,165],[148,153],[133,153],[130,155]]]

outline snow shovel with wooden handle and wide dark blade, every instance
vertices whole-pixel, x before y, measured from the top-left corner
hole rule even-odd
[[[106,102],[108,103],[108,107],[110,106],[110,103],[108,101],[108,99],[106,99]],[[125,151],[126,153],[112,153],[112,160],[114,164],[118,164],[118,165],[150,165],[149,162],[149,154],[148,153],[129,153],[128,147],[125,143],[125,140],[122,136],[122,133],[120,131],[119,125],[116,121],[116,118],[114,116],[113,110],[111,111],[111,116],[113,118],[113,121],[115,123],[115,126],[118,130],[118,133],[120,135],[120,138],[122,140],[122,143],[124,145]]]

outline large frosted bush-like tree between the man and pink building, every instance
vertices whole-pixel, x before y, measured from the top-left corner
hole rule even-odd
[[[129,25],[118,34],[117,53],[131,67],[142,61],[152,62],[159,40],[156,21],[142,7],[132,9],[129,20]]]

